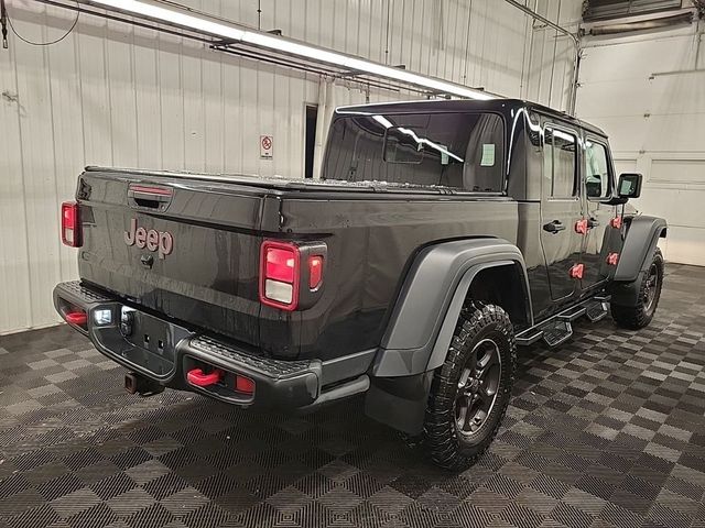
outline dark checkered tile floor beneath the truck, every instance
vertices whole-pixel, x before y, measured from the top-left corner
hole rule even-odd
[[[705,268],[640,332],[520,349],[505,427],[451,475],[367,419],[129,396],[54,328],[0,338],[0,527],[705,527]]]

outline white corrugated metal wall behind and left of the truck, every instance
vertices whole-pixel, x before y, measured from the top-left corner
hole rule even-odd
[[[257,0],[189,6],[258,25]],[[414,72],[519,96],[527,18],[499,0],[262,0],[261,28]],[[14,28],[51,41],[74,14],[9,0]],[[389,16],[388,16],[389,10]],[[82,16],[61,43],[0,50],[0,333],[57,321],[53,286],[76,278],[58,206],[85,165],[302,176],[316,76]],[[370,100],[408,99],[375,92]],[[362,102],[337,86],[335,103]],[[274,135],[274,158],[259,135]]]

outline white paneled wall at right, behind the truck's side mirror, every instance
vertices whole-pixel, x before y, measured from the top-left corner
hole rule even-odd
[[[633,205],[669,222],[666,260],[705,265],[705,73],[679,73],[705,67],[698,42],[695,24],[587,41],[577,110],[609,134],[618,169],[643,173]]]

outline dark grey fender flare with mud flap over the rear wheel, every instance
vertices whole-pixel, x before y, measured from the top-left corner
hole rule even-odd
[[[421,432],[433,371],[445,361],[473,280],[484,270],[507,265],[521,271],[525,318],[533,323],[525,264],[514,244],[466,239],[416,255],[370,369],[368,416],[411,435]]]

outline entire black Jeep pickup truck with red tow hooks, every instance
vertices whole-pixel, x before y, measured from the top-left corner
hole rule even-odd
[[[625,212],[603,131],[513,99],[335,112],[322,179],[88,167],[62,206],[62,317],[143,395],[367,414],[470,464],[517,345],[653,317],[660,218]]]

